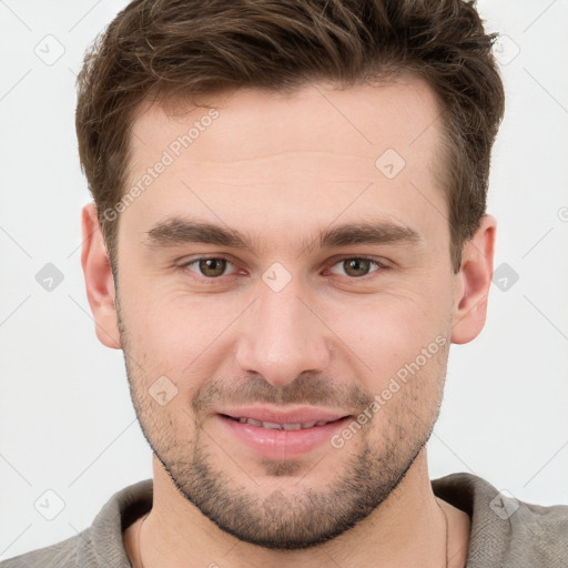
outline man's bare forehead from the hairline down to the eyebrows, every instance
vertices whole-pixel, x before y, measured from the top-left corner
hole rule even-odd
[[[414,207],[423,230],[444,220],[439,106],[417,78],[344,90],[312,83],[285,94],[241,89],[207,103],[216,114],[200,106],[179,113],[140,108],[129,184],[164,155],[170,162],[122,214],[136,215],[140,231],[180,207],[232,226],[243,214],[260,230],[328,225],[339,214],[348,221],[371,209],[410,224],[400,215]]]

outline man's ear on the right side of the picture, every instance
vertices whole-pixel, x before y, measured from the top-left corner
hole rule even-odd
[[[495,217],[484,215],[479,229],[464,245],[462,268],[454,283],[452,343],[475,339],[485,325],[496,231]]]

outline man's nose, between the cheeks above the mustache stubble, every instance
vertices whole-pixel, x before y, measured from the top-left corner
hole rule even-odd
[[[240,322],[236,363],[243,373],[283,387],[303,372],[326,369],[332,333],[301,287],[295,278],[280,292],[260,284],[260,297]]]

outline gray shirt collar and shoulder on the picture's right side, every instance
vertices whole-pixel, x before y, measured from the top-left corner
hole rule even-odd
[[[568,566],[568,505],[527,503],[468,473],[434,479],[432,487],[471,519],[468,568]]]

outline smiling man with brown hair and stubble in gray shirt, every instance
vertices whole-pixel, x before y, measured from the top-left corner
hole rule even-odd
[[[483,329],[503,84],[462,0],[135,0],[79,77],[82,266],[153,479],[1,566],[568,565],[568,507],[429,480]]]

